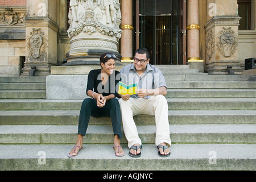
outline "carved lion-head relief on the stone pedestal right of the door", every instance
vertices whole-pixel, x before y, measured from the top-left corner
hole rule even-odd
[[[224,57],[234,55],[238,46],[238,39],[231,27],[223,27],[218,36],[218,51]]]

